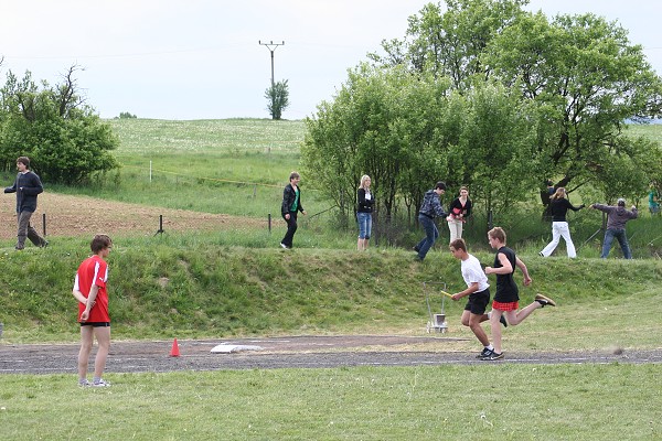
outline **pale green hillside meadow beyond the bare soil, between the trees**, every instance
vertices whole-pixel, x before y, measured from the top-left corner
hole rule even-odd
[[[265,217],[289,173],[298,169],[302,121],[225,119],[164,121],[108,120],[120,139],[121,164],[87,187],[51,191],[167,208]],[[306,181],[301,183],[306,189]],[[307,192],[311,213],[327,208]]]

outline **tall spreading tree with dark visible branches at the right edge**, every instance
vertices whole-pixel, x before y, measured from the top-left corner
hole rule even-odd
[[[528,14],[494,39],[483,60],[495,77],[537,104],[534,157],[541,181],[557,176],[559,185],[591,182],[606,189],[634,184],[632,175],[608,169],[641,169],[640,150],[655,150],[626,137],[624,122],[660,114],[662,82],[626,30],[594,14],[552,22]],[[641,178],[645,185],[649,180]]]

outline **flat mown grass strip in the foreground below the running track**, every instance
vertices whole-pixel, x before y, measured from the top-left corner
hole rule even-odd
[[[354,367],[2,378],[11,440],[659,439],[660,365]],[[34,423],[39,421],[39,423]]]

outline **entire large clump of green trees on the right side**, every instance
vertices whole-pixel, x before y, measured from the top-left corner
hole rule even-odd
[[[659,179],[660,148],[624,130],[660,115],[661,79],[624,30],[592,14],[549,22],[526,0],[446,4],[410,17],[308,121],[305,163],[344,213],[364,172],[388,216],[438,179],[471,185],[495,215],[547,178],[607,196]]]

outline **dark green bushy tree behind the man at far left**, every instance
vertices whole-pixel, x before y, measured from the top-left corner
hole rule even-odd
[[[12,170],[19,155],[28,155],[46,182],[81,183],[90,175],[118,166],[110,150],[117,138],[110,127],[77,94],[71,67],[62,84],[38,86],[30,74],[19,79],[11,72],[0,89],[0,159]]]

